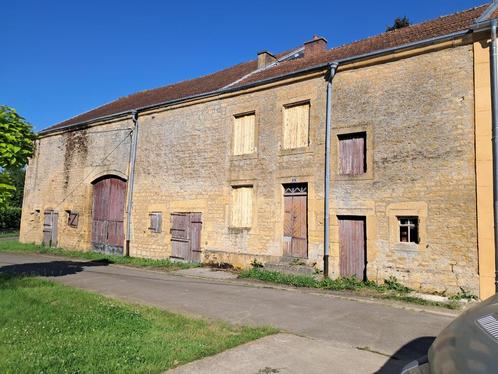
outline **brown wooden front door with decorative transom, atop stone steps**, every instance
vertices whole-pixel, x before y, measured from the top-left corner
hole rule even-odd
[[[308,186],[284,185],[284,257],[308,257]]]

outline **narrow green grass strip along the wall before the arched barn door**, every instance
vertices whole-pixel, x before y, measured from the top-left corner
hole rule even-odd
[[[138,258],[138,257],[112,256],[97,252],[69,251],[62,248],[50,248],[37,244],[19,243],[17,240],[0,241],[0,252],[44,253],[56,256],[81,258],[81,259],[94,260],[94,261],[105,260],[111,264],[149,267],[149,268],[157,268],[163,270],[179,270],[179,269],[188,269],[191,267],[199,266],[197,264],[176,262],[168,259],[151,260],[147,258]]]

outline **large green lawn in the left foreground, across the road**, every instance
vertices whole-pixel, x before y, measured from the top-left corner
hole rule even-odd
[[[0,373],[160,373],[276,332],[0,274]]]

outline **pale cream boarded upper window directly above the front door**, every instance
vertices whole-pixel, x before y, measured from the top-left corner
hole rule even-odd
[[[284,149],[308,146],[309,118],[309,103],[284,108]]]

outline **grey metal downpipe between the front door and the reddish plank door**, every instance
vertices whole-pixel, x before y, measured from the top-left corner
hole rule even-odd
[[[332,125],[332,79],[337,70],[337,63],[329,65],[327,80],[327,103],[325,125],[325,180],[324,180],[324,230],[323,230],[323,276],[329,276],[329,251],[330,251],[330,133]]]

